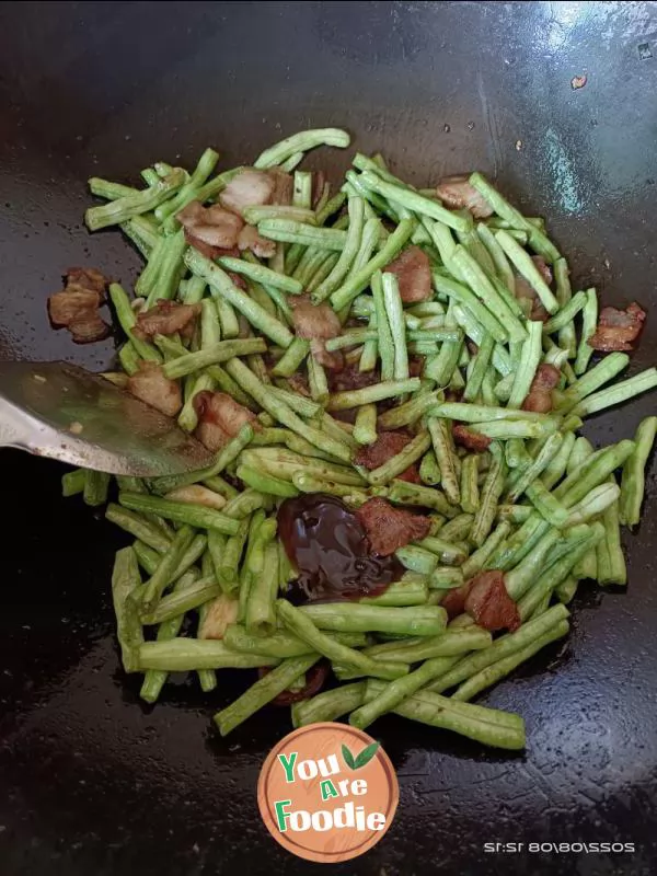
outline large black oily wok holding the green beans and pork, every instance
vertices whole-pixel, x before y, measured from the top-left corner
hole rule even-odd
[[[0,351],[101,368],[45,309],[62,269],[130,284],[118,233],[81,224],[92,174],[155,159],[223,166],[303,127],[339,125],[426,185],[477,168],[545,215],[579,283],[657,309],[654,3],[2,3]],[[575,76],[586,85],[572,88]],[[343,170],[322,152],[313,166]],[[632,371],[655,362],[657,318]],[[630,437],[655,395],[599,416]],[[108,581],[122,543],[59,495],[60,468],[3,451],[0,861],[19,874],[300,874],[272,840],[255,785],[287,711],[222,740],[209,717],[244,685],[192,680],[154,707],[118,668]],[[654,468],[648,494],[655,493]],[[649,498],[649,495],[648,495]],[[565,646],[484,701],[522,713],[509,757],[381,721],[401,783],[392,828],[336,873],[647,874],[657,853],[657,516],[626,539],[627,591],[584,587]],[[518,853],[484,843],[525,843]],[[634,853],[531,853],[527,843],[634,843]],[[545,846],[546,850],[548,846]]]

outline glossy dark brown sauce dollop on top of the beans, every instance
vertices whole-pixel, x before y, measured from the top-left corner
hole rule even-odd
[[[288,593],[295,602],[377,596],[404,572],[395,556],[372,554],[356,515],[323,493],[286,499],[278,534],[299,573]]]

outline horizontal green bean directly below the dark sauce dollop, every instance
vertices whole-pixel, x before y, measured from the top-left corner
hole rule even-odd
[[[324,602],[303,606],[320,630],[342,633],[395,633],[404,636],[431,636],[445,630],[447,613],[439,606],[393,608],[362,603]]]

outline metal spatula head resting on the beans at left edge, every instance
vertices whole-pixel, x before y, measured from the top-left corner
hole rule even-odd
[[[68,362],[0,362],[0,447],[139,477],[212,461],[175,420]]]

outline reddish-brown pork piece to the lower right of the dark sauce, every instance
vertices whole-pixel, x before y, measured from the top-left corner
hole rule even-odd
[[[507,593],[504,574],[499,569],[480,572],[461,587],[450,590],[440,604],[451,618],[464,611],[489,632],[517,630],[520,626],[518,607]]]

